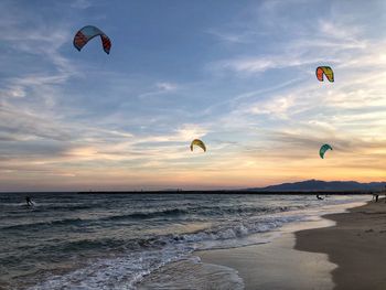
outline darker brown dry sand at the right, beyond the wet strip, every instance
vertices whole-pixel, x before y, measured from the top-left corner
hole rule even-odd
[[[332,271],[337,290],[386,289],[386,204],[326,215],[335,226],[296,233],[296,249],[324,253],[339,267]]]

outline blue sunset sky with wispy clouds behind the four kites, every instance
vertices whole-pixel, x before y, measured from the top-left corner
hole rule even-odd
[[[0,30],[2,192],[386,180],[383,0],[2,0]]]

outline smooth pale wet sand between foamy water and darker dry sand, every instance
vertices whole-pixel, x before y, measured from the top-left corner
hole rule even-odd
[[[274,241],[233,249],[197,251],[202,262],[237,270],[245,289],[333,289],[331,264],[325,254],[296,250],[294,230],[332,226],[326,219],[289,225]]]

